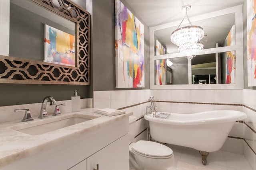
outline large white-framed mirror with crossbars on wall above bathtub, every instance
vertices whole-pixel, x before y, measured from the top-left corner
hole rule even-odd
[[[204,49],[178,52],[170,35],[180,21],[150,27],[151,89],[243,88],[242,5],[190,18]],[[188,24],[183,24],[185,26]],[[185,57],[194,55],[194,59]]]

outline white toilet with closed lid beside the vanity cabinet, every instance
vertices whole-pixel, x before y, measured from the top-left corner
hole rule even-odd
[[[129,117],[130,169],[167,170],[174,164],[172,149],[152,141],[134,142],[136,117]]]

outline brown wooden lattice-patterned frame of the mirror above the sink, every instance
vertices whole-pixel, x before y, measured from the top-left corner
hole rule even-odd
[[[76,24],[76,66],[0,55],[0,83],[90,84],[90,13],[71,0],[30,0]],[[1,70],[0,70],[1,71]]]

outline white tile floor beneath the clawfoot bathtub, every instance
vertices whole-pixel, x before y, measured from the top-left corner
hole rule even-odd
[[[211,152],[204,166],[198,150],[167,145],[173,150],[174,165],[168,170],[252,170],[242,154],[235,154],[218,150]]]

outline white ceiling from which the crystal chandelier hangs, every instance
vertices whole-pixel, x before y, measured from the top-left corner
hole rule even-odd
[[[181,8],[190,4],[188,17],[243,4],[244,0],[125,0],[148,27],[182,20]]]

